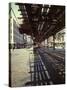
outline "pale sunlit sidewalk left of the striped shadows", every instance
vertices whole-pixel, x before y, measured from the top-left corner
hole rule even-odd
[[[29,58],[33,60],[33,49],[15,49],[11,51],[12,87],[24,86],[30,81]],[[30,56],[29,56],[30,55]]]

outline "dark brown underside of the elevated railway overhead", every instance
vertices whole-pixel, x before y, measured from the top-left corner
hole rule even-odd
[[[18,18],[23,19],[20,33],[31,35],[35,42],[42,42],[65,27],[65,6],[22,3],[16,5],[22,15]]]

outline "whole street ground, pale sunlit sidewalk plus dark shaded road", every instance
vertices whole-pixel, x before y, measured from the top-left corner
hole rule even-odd
[[[12,87],[64,84],[64,59],[60,58],[64,57],[63,53],[62,51],[60,55],[58,51],[48,51],[44,48],[12,50]]]

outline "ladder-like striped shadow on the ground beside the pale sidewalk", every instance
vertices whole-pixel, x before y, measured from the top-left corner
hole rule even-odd
[[[25,86],[38,86],[53,84],[48,71],[40,59],[38,52],[34,49],[34,61],[29,62],[31,81],[25,83]]]

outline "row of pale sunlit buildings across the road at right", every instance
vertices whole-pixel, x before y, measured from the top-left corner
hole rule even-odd
[[[61,30],[55,35],[55,42],[53,42],[53,36],[50,36],[45,41],[42,41],[42,46],[53,48],[53,43],[55,43],[55,48],[65,48],[65,31]]]

